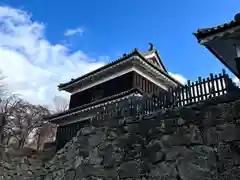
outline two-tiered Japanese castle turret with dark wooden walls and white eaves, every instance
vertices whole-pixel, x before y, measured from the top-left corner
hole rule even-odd
[[[71,96],[69,110],[48,117],[48,121],[58,125],[57,149],[88,125],[106,104],[132,96],[159,94],[181,85],[168,74],[152,44],[145,53],[134,49],[95,71],[60,84],[59,90]]]

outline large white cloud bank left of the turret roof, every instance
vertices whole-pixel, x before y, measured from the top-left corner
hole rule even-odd
[[[71,52],[44,37],[45,26],[22,10],[0,6],[0,69],[11,93],[22,94],[31,103],[49,104],[57,85],[92,71],[103,61],[82,51]],[[71,33],[70,33],[71,34]]]

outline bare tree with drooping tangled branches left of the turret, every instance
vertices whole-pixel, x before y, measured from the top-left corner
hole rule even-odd
[[[17,140],[17,148],[23,148],[28,141],[36,141],[38,131],[44,124],[43,117],[49,110],[40,105],[32,105],[22,99],[7,107],[4,131],[7,137]]]

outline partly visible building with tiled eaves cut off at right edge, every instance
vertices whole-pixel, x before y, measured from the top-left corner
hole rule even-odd
[[[194,35],[201,45],[240,78],[240,13],[228,23],[198,29]]]

